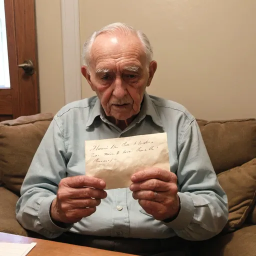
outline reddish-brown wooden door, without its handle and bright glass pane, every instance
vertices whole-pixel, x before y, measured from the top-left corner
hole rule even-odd
[[[39,112],[34,0],[4,0],[4,10],[10,87],[0,88],[0,121]],[[26,60],[30,74],[18,67]]]

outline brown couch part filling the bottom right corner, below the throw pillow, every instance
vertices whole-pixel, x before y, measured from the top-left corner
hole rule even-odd
[[[242,227],[234,232],[217,235],[200,245],[200,255],[255,256],[256,225]]]

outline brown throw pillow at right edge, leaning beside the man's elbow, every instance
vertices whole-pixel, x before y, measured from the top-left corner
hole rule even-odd
[[[224,231],[241,227],[256,201],[256,158],[217,175],[228,199],[228,222]]]

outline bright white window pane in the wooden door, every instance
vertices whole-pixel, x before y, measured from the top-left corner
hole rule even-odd
[[[4,0],[0,0],[0,88],[10,87]]]

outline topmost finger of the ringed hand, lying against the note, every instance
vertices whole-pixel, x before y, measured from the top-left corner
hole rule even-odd
[[[135,192],[138,190],[153,190],[153,191],[168,191],[170,189],[171,183],[161,181],[159,179],[151,178],[146,181],[141,181],[137,183],[132,183],[130,185],[130,190]]]

